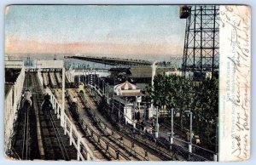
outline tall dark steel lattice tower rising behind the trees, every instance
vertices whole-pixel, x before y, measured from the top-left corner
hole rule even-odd
[[[180,18],[186,19],[183,76],[192,71],[202,77],[210,71],[212,77],[216,77],[219,60],[218,16],[218,5],[181,7]]]

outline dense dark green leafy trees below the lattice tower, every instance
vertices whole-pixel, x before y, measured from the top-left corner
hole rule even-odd
[[[201,137],[215,134],[218,117],[218,80],[207,78],[202,82],[195,82],[176,75],[159,74],[154,77],[154,87],[148,86],[147,92],[150,100],[154,101],[154,106],[166,106],[170,113],[172,108],[180,114],[192,111],[195,134],[200,134]],[[180,115],[179,120],[181,128],[183,124],[189,126],[189,117]]]

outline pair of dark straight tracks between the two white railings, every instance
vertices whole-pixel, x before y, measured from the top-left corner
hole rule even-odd
[[[12,151],[21,160],[77,160],[61,122],[52,111],[43,111],[44,89],[36,72],[26,72],[24,88],[32,91],[32,106],[21,107],[15,122]]]

